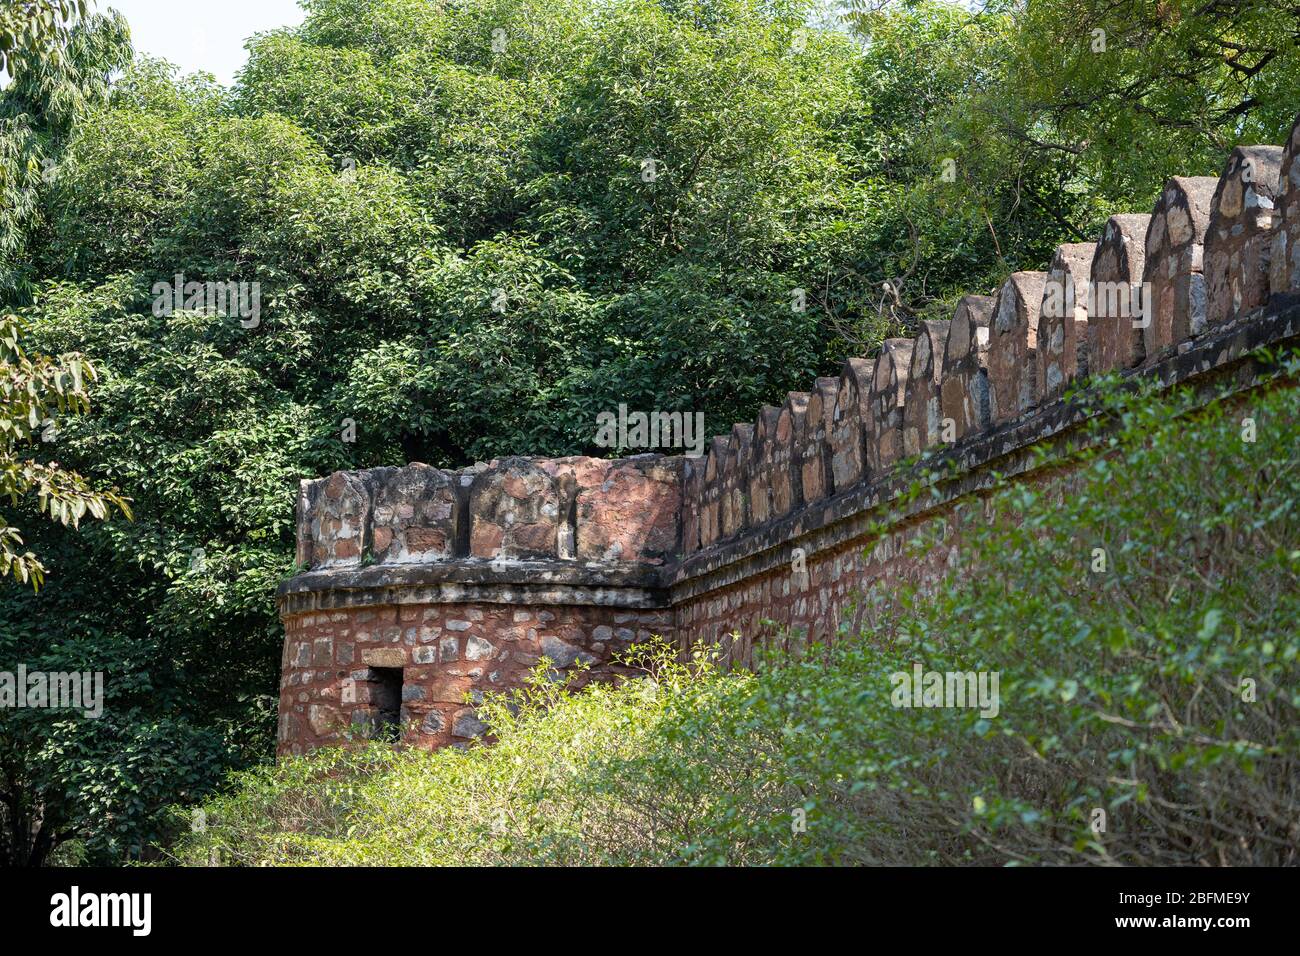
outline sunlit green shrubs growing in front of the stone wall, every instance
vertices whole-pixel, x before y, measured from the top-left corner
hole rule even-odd
[[[178,857],[1296,864],[1297,372],[1201,408],[1110,394],[1071,470],[923,525],[922,553],[959,525],[940,585],[831,648],[757,674],[647,650],[573,695],[538,672],[484,708],[490,747],[243,774]],[[998,672],[997,715],[896,708],[916,662]]]

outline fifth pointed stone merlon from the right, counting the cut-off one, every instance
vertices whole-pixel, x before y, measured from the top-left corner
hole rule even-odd
[[[1088,285],[1097,246],[1057,246],[1043,284],[1039,308],[1037,381],[1040,401],[1060,398],[1066,386],[1088,373]]]

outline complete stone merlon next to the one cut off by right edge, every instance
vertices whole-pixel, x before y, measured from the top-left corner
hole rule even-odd
[[[1205,234],[1205,323],[1222,325],[1269,300],[1280,146],[1239,146],[1219,176]]]

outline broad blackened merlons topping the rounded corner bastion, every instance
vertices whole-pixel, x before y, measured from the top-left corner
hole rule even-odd
[[[415,462],[303,481],[304,570],[454,561],[664,564],[681,554],[682,458]]]

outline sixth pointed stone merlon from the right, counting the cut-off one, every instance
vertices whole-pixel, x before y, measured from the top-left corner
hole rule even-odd
[[[1039,403],[1037,336],[1045,272],[1015,272],[1002,284],[989,326],[989,415],[1018,419]]]

